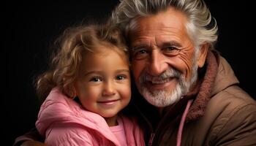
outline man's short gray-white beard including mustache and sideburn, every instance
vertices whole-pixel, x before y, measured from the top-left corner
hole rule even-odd
[[[196,56],[196,55],[195,55]],[[148,88],[144,86],[145,81],[153,81],[158,80],[167,80],[167,78],[176,77],[178,79],[178,84],[172,91],[150,91]],[[193,61],[193,70],[192,77],[187,82],[185,77],[181,75],[176,69],[169,68],[158,77],[152,77],[149,74],[143,73],[140,75],[138,89],[142,96],[148,101],[150,104],[156,107],[167,107],[168,105],[174,104],[178,102],[184,95],[189,92],[191,85],[197,80],[197,65],[195,64],[195,58]]]

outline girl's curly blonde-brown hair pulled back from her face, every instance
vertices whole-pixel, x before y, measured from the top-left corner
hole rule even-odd
[[[73,82],[86,50],[93,51],[97,46],[107,44],[122,50],[128,56],[121,31],[110,24],[67,28],[56,42],[59,47],[53,54],[50,69],[41,74],[36,82],[37,95],[42,99],[55,87],[60,88],[69,98],[74,98]]]

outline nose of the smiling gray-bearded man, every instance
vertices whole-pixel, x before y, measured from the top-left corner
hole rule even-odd
[[[148,63],[148,74],[152,76],[158,76],[165,72],[168,68],[165,55],[158,49],[154,49],[151,52],[150,61]]]

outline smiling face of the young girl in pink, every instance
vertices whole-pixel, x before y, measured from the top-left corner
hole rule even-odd
[[[118,48],[99,46],[86,51],[75,81],[75,90],[86,110],[105,120],[127,106],[131,97],[129,62]]]

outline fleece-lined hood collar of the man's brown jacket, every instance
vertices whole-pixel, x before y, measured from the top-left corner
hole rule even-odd
[[[216,51],[209,50],[206,58],[206,72],[200,78],[200,87],[196,88],[197,96],[189,109],[186,120],[195,120],[203,116],[211,96],[236,83],[238,80],[225,58],[222,58]]]

